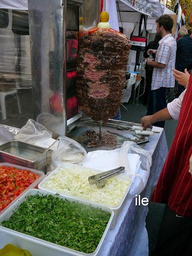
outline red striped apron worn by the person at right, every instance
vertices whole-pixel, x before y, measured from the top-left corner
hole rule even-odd
[[[192,215],[192,74],[183,97],[174,139],[162,167],[151,200],[168,204],[182,216]]]

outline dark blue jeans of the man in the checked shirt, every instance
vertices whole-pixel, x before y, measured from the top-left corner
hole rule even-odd
[[[167,88],[160,87],[156,90],[150,90],[148,102],[147,102],[147,113],[146,115],[154,114],[159,110],[166,107],[166,95]],[[165,121],[154,122],[154,126],[164,127]]]

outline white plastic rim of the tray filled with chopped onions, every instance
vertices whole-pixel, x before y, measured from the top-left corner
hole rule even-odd
[[[118,217],[121,209],[123,208],[124,203],[126,202],[126,200],[128,198],[128,192],[129,192],[130,186],[132,184],[132,178],[130,177],[130,179],[131,179],[130,184],[127,187],[127,190],[126,190],[125,194],[123,195],[120,203],[117,206],[114,207],[114,206],[110,206],[110,205],[103,205],[103,204],[100,204],[100,203],[97,203],[97,202],[94,202],[94,201],[83,199],[81,197],[73,196],[71,194],[66,194],[66,193],[63,193],[63,192],[55,190],[55,189],[49,189],[49,188],[44,187],[44,184],[50,179],[51,176],[53,176],[54,174],[58,173],[60,171],[60,168],[72,168],[72,169],[74,169],[74,171],[75,171],[75,168],[77,168],[77,169],[86,169],[86,170],[94,171],[94,172],[97,172],[97,173],[101,172],[100,170],[87,168],[87,167],[84,167],[84,166],[81,166],[81,165],[77,165],[77,164],[62,163],[55,170],[53,170],[52,172],[48,173],[48,175],[38,184],[38,188],[41,189],[41,190],[44,190],[44,191],[48,191],[48,192],[58,192],[60,195],[68,196],[69,198],[80,199],[81,201],[83,201],[85,203],[92,202],[92,203],[96,204],[98,207],[102,207],[102,206],[109,207],[114,212],[114,217],[112,219],[112,223],[111,223],[111,226],[110,226],[110,228],[113,228],[115,226],[117,217]],[[116,178],[118,178],[118,176],[116,176]]]

